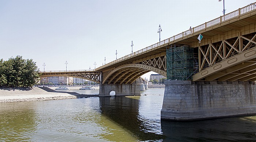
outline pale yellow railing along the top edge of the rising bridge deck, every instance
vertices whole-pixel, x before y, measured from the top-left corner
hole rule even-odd
[[[199,32],[201,30],[204,30],[206,28],[212,27],[214,25],[221,24],[223,21],[227,21],[227,20],[230,20],[232,18],[239,17],[240,15],[246,14],[246,13],[248,13],[250,11],[255,10],[255,9],[256,9],[256,2],[255,3],[251,3],[251,4],[249,4],[249,5],[247,5],[247,6],[243,7],[243,8],[239,8],[236,11],[227,13],[226,15],[220,16],[220,17],[218,17],[218,18],[216,18],[214,20],[208,21],[208,22],[206,22],[204,24],[201,24],[201,25],[199,25],[197,27],[193,27],[193,28],[191,28],[191,29],[189,29],[189,30],[187,30],[185,32],[179,33],[178,35],[175,35],[173,37],[167,38],[166,40],[160,41],[160,42],[158,42],[156,44],[153,44],[151,46],[143,48],[143,49],[141,49],[139,51],[136,51],[136,52],[134,52],[132,54],[129,54],[129,55],[126,55],[126,56],[124,56],[122,58],[114,60],[114,61],[112,61],[112,62],[110,62],[110,63],[108,63],[106,65],[103,65],[103,66],[101,66],[99,68],[104,68],[105,66],[109,66],[109,65],[112,65],[112,64],[114,64],[116,62],[119,62],[121,60],[124,60],[124,59],[127,59],[127,58],[131,58],[132,56],[136,56],[139,53],[143,53],[143,52],[146,52],[147,50],[151,50],[153,48],[157,48],[160,45],[163,45],[163,44],[166,44],[168,42],[177,40],[179,38],[188,36],[188,35],[193,34],[195,32]]]

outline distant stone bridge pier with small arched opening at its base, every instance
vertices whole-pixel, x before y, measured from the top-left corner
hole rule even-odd
[[[136,81],[133,84],[100,84],[99,97],[110,96],[110,92],[115,91],[116,96],[140,95],[140,84]]]

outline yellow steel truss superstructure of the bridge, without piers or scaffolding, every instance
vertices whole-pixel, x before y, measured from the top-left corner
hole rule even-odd
[[[197,37],[203,35],[199,43]],[[256,3],[203,23],[95,70],[41,72],[102,84],[132,84],[150,71],[167,76],[166,49],[188,45],[197,63],[192,81],[256,81]]]

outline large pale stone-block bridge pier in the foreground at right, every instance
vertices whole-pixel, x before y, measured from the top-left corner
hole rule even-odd
[[[161,119],[191,121],[256,114],[254,82],[165,81]]]

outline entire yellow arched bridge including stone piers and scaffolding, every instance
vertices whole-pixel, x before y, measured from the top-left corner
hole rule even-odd
[[[167,77],[161,119],[256,114],[256,3],[193,27],[95,70],[42,72],[100,83],[99,96],[139,95],[136,80]],[[203,38],[198,40],[199,35]]]

